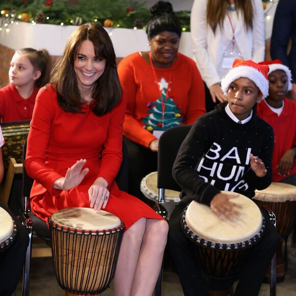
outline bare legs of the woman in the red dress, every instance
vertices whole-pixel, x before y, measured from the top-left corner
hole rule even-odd
[[[122,237],[114,276],[114,294],[151,296],[160,272],[168,225],[141,218]]]

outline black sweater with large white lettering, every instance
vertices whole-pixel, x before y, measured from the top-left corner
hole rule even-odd
[[[181,199],[210,205],[220,190],[252,198],[272,182],[274,132],[254,114],[245,124],[233,121],[225,111],[213,110],[196,119],[183,141],[172,175],[182,188]],[[259,178],[250,166],[250,153],[259,157],[267,174]]]

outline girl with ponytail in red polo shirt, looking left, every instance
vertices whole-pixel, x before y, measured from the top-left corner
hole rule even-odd
[[[51,58],[44,49],[22,48],[10,62],[10,84],[0,89],[1,122],[32,119],[39,88],[50,78]]]

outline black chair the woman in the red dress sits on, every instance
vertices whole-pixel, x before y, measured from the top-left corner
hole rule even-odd
[[[26,159],[27,140],[23,144],[23,161]],[[115,181],[120,190],[128,192],[128,150],[124,142],[122,142],[123,159],[115,178]],[[31,254],[32,254],[32,238],[39,237],[44,240],[50,240],[50,230],[47,227],[45,221],[41,220],[31,212],[30,207],[30,192],[34,180],[27,174],[26,168],[23,166],[22,170],[22,199],[24,200],[24,212],[21,214],[22,224],[29,232],[29,245],[26,253],[26,261],[23,268],[23,285],[22,295],[28,296],[30,291],[30,266],[31,266]]]

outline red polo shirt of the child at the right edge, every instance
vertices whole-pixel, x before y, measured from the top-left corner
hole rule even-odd
[[[277,169],[284,153],[296,145],[296,103],[285,97],[284,108],[278,116],[263,101],[257,105],[257,114],[274,129],[273,182],[278,182],[296,172],[296,158],[294,158],[290,175],[280,176]]]

